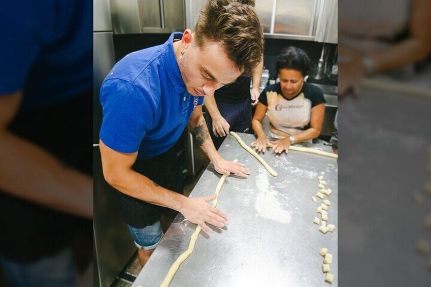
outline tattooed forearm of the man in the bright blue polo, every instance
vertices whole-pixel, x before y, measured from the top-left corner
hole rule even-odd
[[[215,149],[213,140],[207,129],[205,118],[201,115],[197,120],[189,122],[189,130],[201,149],[208,155],[210,160],[215,163],[219,160],[220,155]]]

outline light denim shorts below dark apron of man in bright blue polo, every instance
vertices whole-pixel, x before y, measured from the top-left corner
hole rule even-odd
[[[161,230],[160,220],[157,220],[153,225],[147,225],[144,228],[134,228],[127,225],[135,240],[135,245],[138,248],[151,250],[156,248],[157,244],[160,242],[163,232]]]

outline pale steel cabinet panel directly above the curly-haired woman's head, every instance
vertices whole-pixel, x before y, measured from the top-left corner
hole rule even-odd
[[[277,0],[274,33],[310,36],[314,0]]]

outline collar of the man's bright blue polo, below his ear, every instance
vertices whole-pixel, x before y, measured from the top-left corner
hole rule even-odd
[[[174,52],[174,39],[182,38],[183,33],[172,33],[168,41],[163,44],[161,56],[163,58],[164,67],[168,72],[169,78],[171,79],[174,89],[178,94],[182,94],[186,88],[186,85],[181,77],[180,68],[178,67],[177,58]]]

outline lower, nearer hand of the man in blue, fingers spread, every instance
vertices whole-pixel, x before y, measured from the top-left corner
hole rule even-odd
[[[179,212],[184,215],[190,222],[202,227],[205,232],[210,232],[211,229],[205,222],[223,228],[228,224],[227,215],[211,205],[207,201],[212,201],[216,195],[196,198],[185,198]]]

